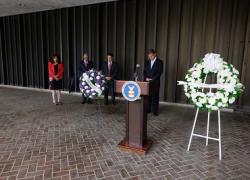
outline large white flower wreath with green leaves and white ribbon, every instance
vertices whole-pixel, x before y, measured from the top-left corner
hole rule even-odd
[[[205,84],[207,76],[217,74],[217,84]],[[221,58],[219,54],[209,53],[188,70],[184,85],[185,95],[198,108],[218,110],[235,102],[244,89],[238,78],[239,71],[232,64]],[[204,92],[204,88],[210,89]],[[212,92],[212,89],[217,89]]]

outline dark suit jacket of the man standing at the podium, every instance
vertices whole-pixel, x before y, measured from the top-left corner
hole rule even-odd
[[[151,69],[151,61],[147,60],[144,65],[144,80],[146,78],[152,79],[151,85],[160,86],[160,77],[163,71],[163,62],[159,58],[156,58],[154,65]]]

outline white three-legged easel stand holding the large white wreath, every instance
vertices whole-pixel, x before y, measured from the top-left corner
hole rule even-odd
[[[207,78],[207,76],[205,77],[204,83],[206,82],[206,78]],[[203,85],[205,85],[205,84],[203,84]],[[205,86],[203,86],[202,91],[204,90],[204,88],[205,88]],[[210,87],[209,91],[211,92],[211,90],[212,90],[212,88]],[[210,111],[208,111],[208,115],[207,115],[207,132],[206,132],[206,136],[194,133],[194,129],[195,129],[195,125],[196,125],[196,122],[197,122],[197,117],[198,117],[199,110],[200,110],[200,108],[196,109],[193,128],[192,128],[191,135],[190,135],[190,138],[189,138],[187,151],[189,151],[189,149],[190,149],[190,145],[191,145],[193,136],[200,137],[200,138],[205,138],[206,139],[206,146],[208,145],[208,140],[209,139],[214,140],[214,141],[218,141],[219,142],[219,159],[221,160],[221,124],[220,124],[221,116],[220,116],[220,110],[217,110],[218,111],[218,133],[219,133],[218,138],[214,138],[214,137],[209,136],[209,124],[210,124],[210,114],[211,114]]]

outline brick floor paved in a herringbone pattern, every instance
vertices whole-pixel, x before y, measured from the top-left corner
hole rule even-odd
[[[0,88],[0,179],[250,179],[250,116],[222,113],[222,161],[218,143],[194,138],[187,152],[195,109],[161,106],[149,116],[154,141],[146,156],[121,152],[124,102],[81,105],[80,97]],[[212,118],[216,118],[212,114]],[[205,132],[206,113],[197,124]],[[211,122],[216,136],[217,119]]]

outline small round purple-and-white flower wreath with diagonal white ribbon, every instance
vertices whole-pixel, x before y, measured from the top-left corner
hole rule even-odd
[[[80,77],[79,88],[86,98],[96,98],[105,90],[106,80],[101,72],[91,69]]]

